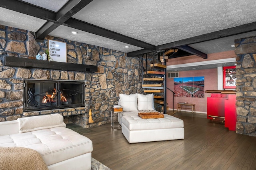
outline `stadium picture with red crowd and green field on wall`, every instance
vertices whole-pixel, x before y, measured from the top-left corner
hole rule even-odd
[[[174,78],[175,97],[204,98],[204,76]]]

